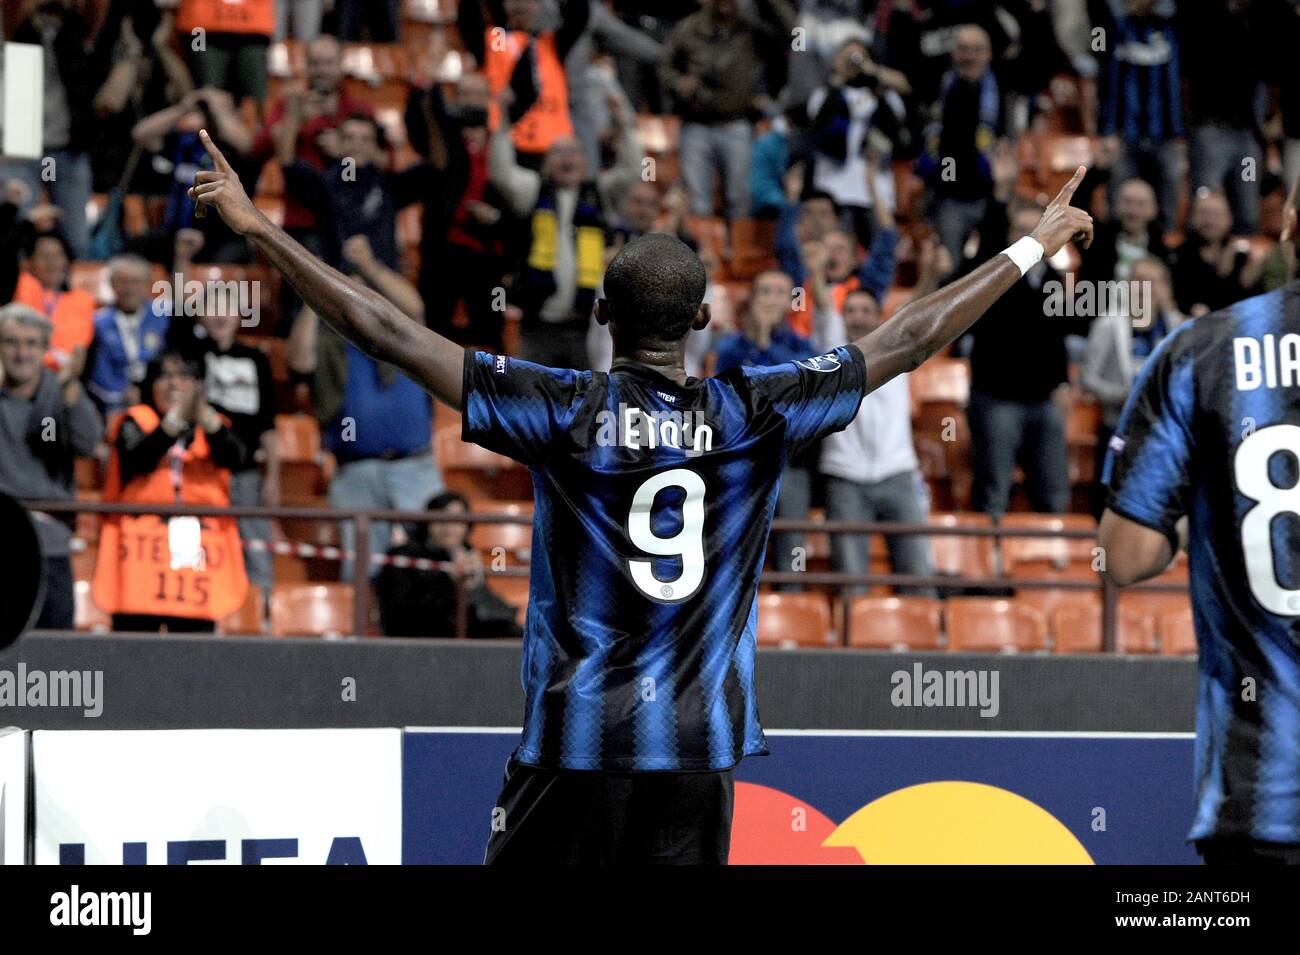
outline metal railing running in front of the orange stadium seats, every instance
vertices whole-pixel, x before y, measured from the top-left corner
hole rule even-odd
[[[359,508],[322,508],[322,507],[261,507],[261,505],[230,505],[205,507],[198,504],[124,504],[92,500],[25,500],[23,507],[29,511],[40,511],[48,515],[151,515],[157,517],[263,517],[268,520],[302,520],[354,524],[355,543],[352,551],[354,570],[354,600],[352,625],[358,635],[364,635],[370,626],[370,589],[368,574],[365,586],[359,586],[356,581],[358,568],[369,568],[373,563],[370,554],[370,525],[376,521],[386,524],[521,524],[532,526],[533,518],[528,515],[508,515],[491,512],[464,512],[446,513],[430,511],[385,511],[385,509],[359,509]],[[822,533],[822,534],[888,534],[888,535],[926,535],[926,537],[975,537],[993,538],[994,541],[1015,538],[1049,538],[1067,541],[1095,541],[1096,531],[1071,529],[1044,529],[1044,528],[1010,528],[1000,525],[937,525],[937,524],[892,524],[885,521],[812,521],[812,520],[775,520],[772,531],[793,533]],[[528,567],[506,568],[491,570],[494,577],[528,577]],[[862,573],[848,574],[823,570],[768,570],[762,572],[760,581],[764,583],[802,583],[810,586],[824,586],[838,591],[841,596],[841,612],[844,616],[844,643],[849,644],[850,633],[850,596],[852,591],[863,586],[892,586],[892,587],[933,587],[1006,591],[1006,590],[1079,590],[1100,591],[1101,594],[1101,633],[1102,650],[1114,652],[1118,647],[1118,592],[1109,578],[1098,574],[1097,582],[1069,579],[1069,578],[1043,578],[1043,577],[1014,577],[997,574],[993,577],[966,577],[956,574],[898,574],[898,573]],[[467,633],[467,609],[464,599],[463,581],[456,577],[456,637],[464,638]],[[1148,582],[1127,587],[1126,592],[1187,592],[1187,587],[1180,583]]]

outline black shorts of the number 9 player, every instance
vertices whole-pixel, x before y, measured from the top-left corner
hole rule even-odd
[[[736,777],[506,764],[489,865],[725,865]]]

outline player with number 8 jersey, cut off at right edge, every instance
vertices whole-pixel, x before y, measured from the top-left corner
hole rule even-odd
[[[1297,190],[1282,235],[1292,278]],[[1188,552],[1200,648],[1188,838],[1209,864],[1300,864],[1300,283],[1161,342],[1102,481],[1098,537],[1117,585]]]

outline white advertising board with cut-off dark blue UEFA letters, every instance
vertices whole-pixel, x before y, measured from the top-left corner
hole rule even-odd
[[[32,734],[36,863],[399,864],[402,730]]]

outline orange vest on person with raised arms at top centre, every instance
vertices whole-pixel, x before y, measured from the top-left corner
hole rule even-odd
[[[494,130],[500,125],[500,107],[497,97],[510,86],[510,75],[515,64],[524,55],[528,42],[537,44],[537,74],[540,88],[537,101],[511,127],[510,138],[520,152],[542,153],[551,148],[560,136],[573,135],[573,121],[568,112],[568,79],[564,77],[564,64],[555,48],[555,34],[551,31],[529,36],[524,30],[502,30],[488,27],[484,42],[484,75],[491,99],[488,103],[488,127]]]

